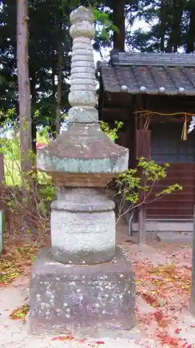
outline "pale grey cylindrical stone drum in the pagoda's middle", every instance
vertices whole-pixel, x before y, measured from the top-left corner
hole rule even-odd
[[[115,203],[96,189],[62,189],[51,205],[53,258],[94,264],[115,254]]]

